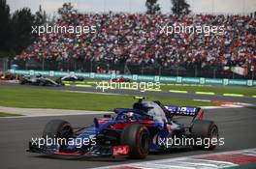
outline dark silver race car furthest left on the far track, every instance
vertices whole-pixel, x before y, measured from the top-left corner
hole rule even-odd
[[[38,85],[38,86],[60,86],[61,83],[57,83],[50,78],[44,77],[41,74],[31,75],[31,76],[23,76],[19,79],[19,84],[30,84],[30,85]]]

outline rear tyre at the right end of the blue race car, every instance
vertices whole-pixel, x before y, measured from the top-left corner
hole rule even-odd
[[[218,127],[208,120],[196,120],[191,129],[192,138],[201,139],[202,145],[193,145],[194,149],[214,150],[218,143]]]

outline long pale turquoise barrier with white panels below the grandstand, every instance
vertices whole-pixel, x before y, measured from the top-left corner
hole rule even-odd
[[[110,80],[115,77],[123,76],[133,81],[142,82],[161,82],[161,83],[182,83],[182,84],[201,84],[201,85],[224,85],[224,86],[256,86],[256,80],[228,79],[228,78],[205,78],[205,77],[180,77],[180,76],[158,76],[158,75],[139,75],[139,74],[115,74],[115,73],[95,73],[95,72],[76,72],[76,71],[53,71],[53,70],[10,70],[22,75],[42,74],[51,77],[59,77],[68,74],[77,74],[85,78]]]

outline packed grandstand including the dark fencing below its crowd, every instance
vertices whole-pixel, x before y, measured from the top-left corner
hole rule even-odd
[[[225,33],[167,36],[160,33],[167,23],[224,26]],[[96,25],[97,33],[44,34],[16,56],[19,69],[225,78],[252,78],[256,71],[256,20],[249,15],[67,14],[55,24]]]

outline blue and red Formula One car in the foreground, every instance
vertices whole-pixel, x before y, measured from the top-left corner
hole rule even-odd
[[[144,158],[149,152],[165,151],[180,147],[174,139],[201,140],[186,146],[213,150],[218,140],[214,122],[203,120],[204,111],[199,107],[163,106],[160,101],[144,98],[133,108],[115,108],[115,118],[104,115],[94,119],[88,127],[75,129],[66,121],[51,120],[41,139],[29,142],[28,152],[64,156],[129,156]],[[192,118],[189,126],[174,121],[176,116]],[[53,141],[52,141],[53,140]],[[202,141],[204,140],[204,141]],[[207,140],[207,141],[206,141]]]

